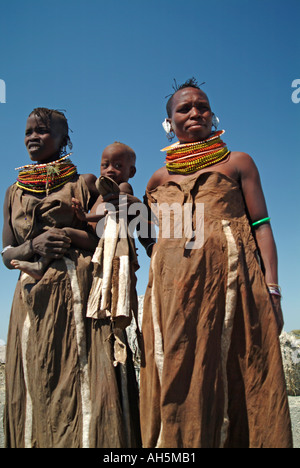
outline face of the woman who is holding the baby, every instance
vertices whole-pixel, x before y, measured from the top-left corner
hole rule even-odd
[[[60,155],[62,134],[58,125],[49,128],[37,115],[30,115],[25,129],[25,146],[32,161],[51,162]]]

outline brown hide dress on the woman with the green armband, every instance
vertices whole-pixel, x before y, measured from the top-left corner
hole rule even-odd
[[[142,327],[143,446],[291,447],[277,327],[239,185],[207,172],[147,197],[156,214],[155,204],[190,203],[196,233],[204,204],[204,239],[193,249],[178,232],[164,239],[158,216]]]

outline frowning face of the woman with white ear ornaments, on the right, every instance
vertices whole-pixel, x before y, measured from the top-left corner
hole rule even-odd
[[[211,134],[212,112],[205,93],[184,88],[173,96],[169,122],[180,143],[205,140]]]

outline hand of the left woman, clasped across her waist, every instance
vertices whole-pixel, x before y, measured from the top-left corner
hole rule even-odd
[[[34,253],[42,257],[60,258],[70,248],[71,239],[63,229],[51,228],[32,240]]]

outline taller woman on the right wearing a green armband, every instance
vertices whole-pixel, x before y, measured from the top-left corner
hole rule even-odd
[[[276,247],[257,168],[212,132],[194,79],[167,110],[179,143],[147,187],[160,234],[142,327],[143,445],[291,447]],[[191,207],[192,234],[177,218],[164,235],[168,203],[180,207],[174,218]]]

